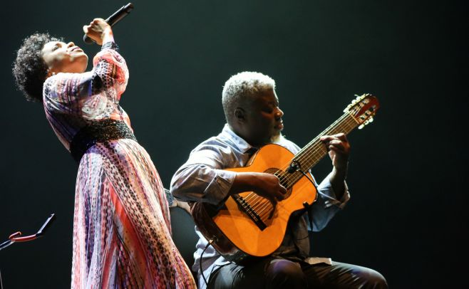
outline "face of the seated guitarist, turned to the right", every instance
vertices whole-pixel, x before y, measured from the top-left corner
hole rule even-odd
[[[280,136],[284,125],[284,112],[279,108],[279,99],[275,90],[268,90],[254,97],[244,106],[245,127],[244,135],[252,145],[263,145],[273,142]]]

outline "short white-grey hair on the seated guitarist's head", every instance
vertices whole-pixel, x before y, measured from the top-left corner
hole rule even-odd
[[[275,89],[275,80],[262,73],[244,71],[232,75],[223,86],[222,105],[227,122],[232,120],[238,103],[259,93]]]

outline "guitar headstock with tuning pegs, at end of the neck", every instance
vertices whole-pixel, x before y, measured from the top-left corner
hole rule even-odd
[[[364,95],[355,95],[356,99],[346,107],[344,112],[349,113],[356,122],[359,124],[361,130],[368,123],[373,122],[373,116],[376,115],[376,110],[379,108],[378,98],[369,93]]]

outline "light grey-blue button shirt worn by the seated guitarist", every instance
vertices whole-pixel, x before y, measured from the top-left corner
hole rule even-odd
[[[293,154],[299,152],[300,149],[297,144],[284,137],[281,137],[276,143],[289,149]],[[252,154],[257,152],[257,149],[236,135],[228,125],[225,125],[220,135],[210,137],[192,150],[187,162],[172,177],[171,193],[176,199],[182,201],[202,201],[217,207],[222,206],[229,196],[228,192],[236,176],[236,172],[224,169],[244,167]],[[324,228],[337,211],[340,211],[349,201],[350,194],[347,186],[345,188],[346,191],[341,200],[337,200],[329,178],[324,179],[317,186],[318,198],[311,210],[313,215],[312,231],[320,231]],[[328,258],[308,258],[308,229],[311,230],[306,214],[292,216],[282,245],[272,255],[308,263],[330,263]],[[196,245],[195,263],[192,270],[197,272],[199,288],[206,288],[200,275],[200,262],[205,278],[209,280],[213,270],[230,263],[230,261],[223,258],[212,246],[205,250],[201,258],[202,251],[207,246],[207,240],[202,236],[197,226],[195,226],[195,232],[200,240]]]

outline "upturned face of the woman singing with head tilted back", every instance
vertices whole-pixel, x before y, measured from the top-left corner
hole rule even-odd
[[[73,42],[48,42],[41,54],[49,76],[53,73],[83,73],[88,66],[88,56]]]

